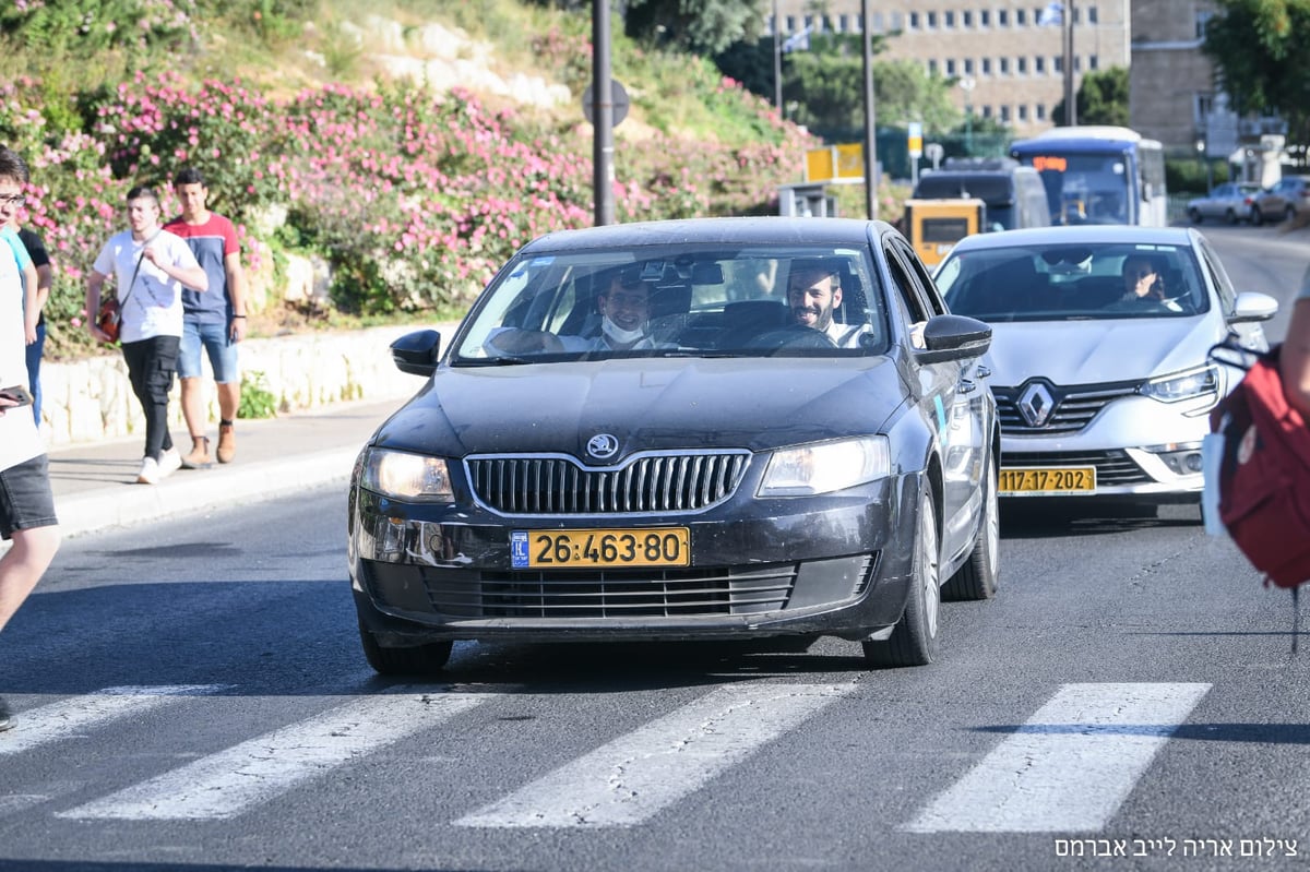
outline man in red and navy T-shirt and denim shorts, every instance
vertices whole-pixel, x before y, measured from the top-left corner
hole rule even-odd
[[[219,394],[220,463],[236,457],[237,439],[233,422],[241,407],[241,372],[237,367],[237,343],[245,339],[245,274],[241,270],[241,246],[236,228],[227,217],[208,208],[208,187],[199,170],[186,168],[173,177],[173,191],[182,203],[182,213],[164,225],[191,246],[191,253],[210,279],[204,293],[182,291],[182,344],[177,372],[182,380],[182,416],[191,433],[191,450],[182,457],[186,469],[212,466],[208,416],[200,385],[200,352],[210,359]],[[220,293],[221,291],[221,293]]]

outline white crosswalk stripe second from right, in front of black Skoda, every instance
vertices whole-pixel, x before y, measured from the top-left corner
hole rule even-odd
[[[734,685],[633,731],[456,826],[630,826],[651,817],[855,685]]]

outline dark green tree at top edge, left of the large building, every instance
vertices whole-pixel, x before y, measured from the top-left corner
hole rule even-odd
[[[624,33],[647,46],[717,55],[755,42],[765,14],[765,0],[629,0]]]

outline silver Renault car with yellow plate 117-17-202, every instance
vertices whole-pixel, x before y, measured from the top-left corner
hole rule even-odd
[[[951,312],[996,331],[1002,498],[1199,503],[1207,414],[1242,376],[1209,350],[1267,350],[1279,308],[1237,293],[1200,232],[984,233],[935,278]]]

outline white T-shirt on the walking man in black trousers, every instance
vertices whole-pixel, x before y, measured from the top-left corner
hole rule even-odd
[[[101,275],[113,275],[117,282],[118,301],[123,305],[122,342],[182,335],[182,283],[141,257],[147,241],[166,263],[182,268],[200,266],[191,246],[168,230],[157,230],[143,241],[134,240],[131,230],[110,237],[93,268]],[[135,282],[132,274],[136,274]]]

